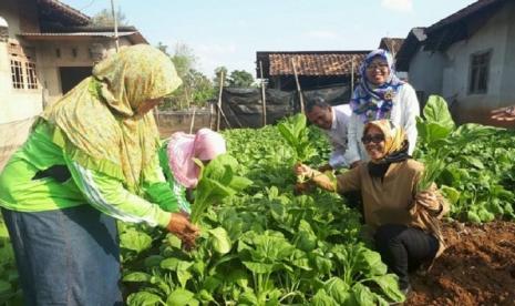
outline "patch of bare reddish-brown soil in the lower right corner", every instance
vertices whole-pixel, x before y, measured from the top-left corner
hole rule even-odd
[[[446,224],[447,249],[405,305],[515,305],[515,223]]]

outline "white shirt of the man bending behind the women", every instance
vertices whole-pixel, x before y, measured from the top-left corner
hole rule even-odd
[[[346,151],[347,151],[347,134],[349,120],[352,110],[349,104],[341,104],[332,106],[332,125],[330,130],[323,130],[329,137],[332,145],[329,165],[333,169],[340,166],[348,166]]]

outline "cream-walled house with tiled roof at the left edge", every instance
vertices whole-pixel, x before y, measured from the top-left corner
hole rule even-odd
[[[33,119],[115,52],[112,28],[58,0],[0,1],[0,169]],[[134,27],[119,44],[147,43]]]

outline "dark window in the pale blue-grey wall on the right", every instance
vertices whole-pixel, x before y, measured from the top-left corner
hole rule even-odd
[[[488,70],[491,57],[492,51],[478,52],[471,55],[468,93],[486,93],[488,91]]]

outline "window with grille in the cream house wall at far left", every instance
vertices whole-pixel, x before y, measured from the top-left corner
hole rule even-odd
[[[22,48],[16,42],[9,43],[11,58],[11,80],[13,89],[38,89],[38,74],[35,73],[35,50]]]

